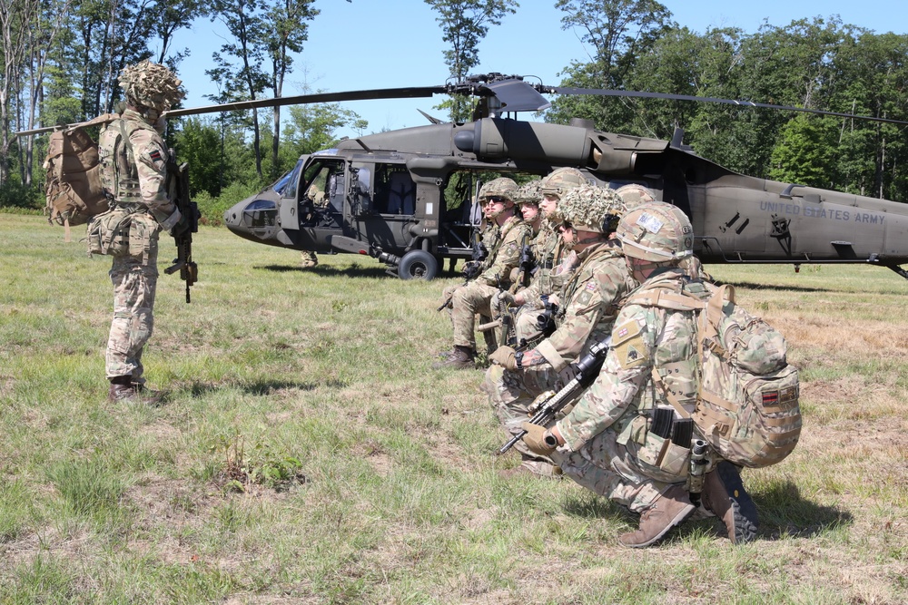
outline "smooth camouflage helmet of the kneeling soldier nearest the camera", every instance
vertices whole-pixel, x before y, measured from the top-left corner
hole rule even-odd
[[[694,229],[684,212],[661,201],[629,210],[618,221],[616,237],[625,256],[652,262],[686,259],[694,253]]]

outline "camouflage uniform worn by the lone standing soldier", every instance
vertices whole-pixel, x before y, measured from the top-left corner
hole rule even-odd
[[[128,141],[128,142],[127,142]],[[180,219],[167,196],[167,149],[161,135],[131,109],[101,133],[98,151],[104,190],[115,210],[130,213],[130,253],[115,256],[114,320],[107,341],[108,378],[143,384],[142,351],[152,335],[158,278],[158,234]],[[141,242],[137,254],[133,241]]]

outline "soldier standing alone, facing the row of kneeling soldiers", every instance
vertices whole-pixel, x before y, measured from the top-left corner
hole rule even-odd
[[[152,336],[155,286],[158,278],[158,234],[190,229],[168,198],[168,151],[161,137],[161,117],[183,99],[181,81],[166,67],[143,61],[120,73],[126,107],[101,132],[98,154],[102,183],[116,220],[102,238],[119,239],[110,270],[114,284],[114,320],[107,341],[106,375],[111,401],[156,403],[161,395],[144,391],[142,351]],[[101,215],[102,217],[104,215]],[[100,217],[99,217],[100,218]]]

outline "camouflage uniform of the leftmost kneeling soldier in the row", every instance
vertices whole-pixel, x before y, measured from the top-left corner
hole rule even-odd
[[[500,238],[489,249],[489,258],[479,277],[460,286],[451,298],[451,322],[454,345],[476,348],[474,332],[476,314],[491,315],[489,303],[498,288],[508,288],[511,270],[520,265],[520,242],[527,236],[529,225],[514,216],[501,226]]]

